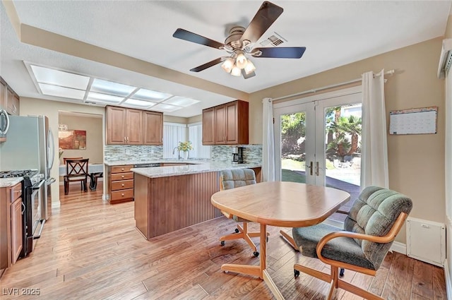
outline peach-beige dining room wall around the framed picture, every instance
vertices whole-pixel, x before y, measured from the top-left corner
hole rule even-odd
[[[68,126],[68,130],[86,131],[86,149],[66,149],[61,155],[60,164],[64,157],[83,157],[89,158],[90,163],[104,162],[104,143],[102,131],[102,115],[93,117],[92,114],[80,116],[59,115],[59,124]]]

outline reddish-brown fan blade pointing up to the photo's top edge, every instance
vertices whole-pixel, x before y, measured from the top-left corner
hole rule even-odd
[[[253,20],[249,23],[240,39],[249,40],[251,43],[257,42],[264,32],[270,28],[275,20],[283,13],[283,8],[271,2],[263,1]]]

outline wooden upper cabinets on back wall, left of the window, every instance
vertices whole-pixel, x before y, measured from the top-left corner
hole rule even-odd
[[[107,106],[105,110],[107,145],[163,144],[161,112],[112,106]]]

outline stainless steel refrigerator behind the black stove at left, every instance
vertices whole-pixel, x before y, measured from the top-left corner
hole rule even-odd
[[[42,219],[52,214],[54,136],[47,116],[9,116],[6,142],[0,143],[0,170],[37,169],[44,174],[46,188],[41,203]]]

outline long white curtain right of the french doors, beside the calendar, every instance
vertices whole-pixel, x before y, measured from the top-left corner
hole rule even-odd
[[[362,74],[361,188],[389,187],[384,70]]]

